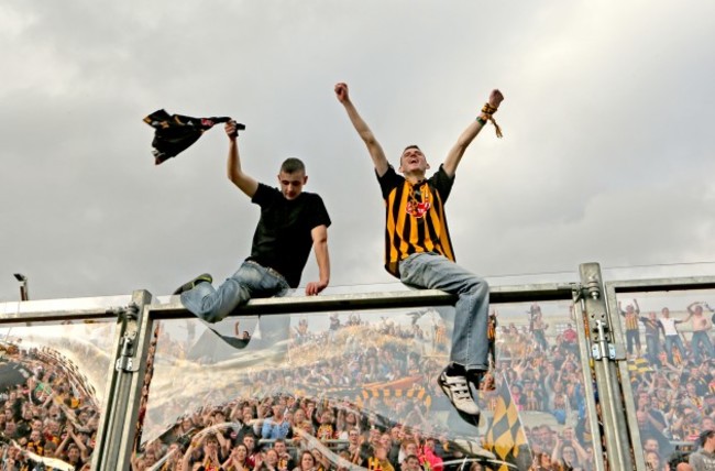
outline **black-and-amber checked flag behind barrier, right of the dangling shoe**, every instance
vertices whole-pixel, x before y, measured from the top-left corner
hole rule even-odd
[[[528,467],[531,463],[531,452],[519,412],[512,399],[512,393],[504,375],[499,383],[494,418],[484,436],[484,448],[496,454],[497,459],[521,469],[521,464],[526,463]],[[507,471],[508,469],[507,464],[495,468],[496,471]]]

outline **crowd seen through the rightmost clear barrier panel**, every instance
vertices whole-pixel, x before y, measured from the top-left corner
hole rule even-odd
[[[637,364],[630,383],[644,453],[658,464],[653,469],[667,469],[685,460],[703,432],[715,430],[715,311],[705,302],[693,302],[683,314],[663,307],[644,315],[637,299],[619,309],[631,332],[627,353]]]

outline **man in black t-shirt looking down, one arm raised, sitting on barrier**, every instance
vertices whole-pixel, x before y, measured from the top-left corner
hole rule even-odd
[[[305,165],[288,158],[280,166],[280,188],[256,182],[241,168],[235,122],[226,124],[229,136],[228,176],[251,201],[261,207],[261,219],[253,236],[251,256],[221,286],[202,274],[174,294],[182,304],[207,322],[217,322],[251,298],[284,296],[300,282],[312,249],[320,280],[306,286],[306,295],[317,295],[330,281],[328,227],[330,217],[320,196],[302,190],[308,182]]]

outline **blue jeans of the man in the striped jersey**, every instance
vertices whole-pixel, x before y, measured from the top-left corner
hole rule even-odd
[[[486,328],[490,286],[479,276],[437,253],[413,253],[399,262],[400,281],[459,296],[450,361],[471,370],[488,370]]]

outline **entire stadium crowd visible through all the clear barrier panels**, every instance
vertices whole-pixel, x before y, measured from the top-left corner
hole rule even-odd
[[[715,430],[713,319],[706,310],[712,310],[706,303],[693,303],[685,314],[671,316],[663,308],[641,315],[634,300],[622,311],[624,330],[631,332],[626,340],[642,452],[653,470],[686,462],[693,442]],[[499,320],[496,313],[493,319]],[[480,393],[486,412],[481,431],[488,428],[506,381],[528,442],[530,459],[522,469],[592,470],[593,439],[601,434],[590,428],[575,322],[566,316],[553,326],[548,320],[535,304],[522,319],[494,325],[496,388]],[[138,441],[132,469],[498,469],[495,461],[465,459],[463,437],[447,423],[449,403],[433,379],[448,338],[440,321],[427,328],[333,315],[329,327],[312,330],[304,319],[294,329],[288,355],[309,362],[248,372],[250,394],[218,395],[178,419],[174,415],[161,436]],[[164,339],[157,329],[153,352]],[[339,354],[310,357],[326,349]],[[16,346],[6,346],[2,361],[22,365],[28,374],[0,391],[0,471],[51,470],[50,459],[88,470],[99,409],[72,362],[51,349]],[[141,420],[153,413],[170,416],[147,408],[153,369],[150,358]]]

